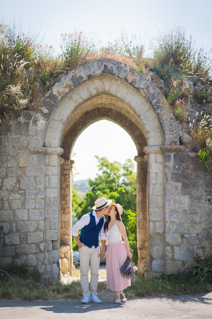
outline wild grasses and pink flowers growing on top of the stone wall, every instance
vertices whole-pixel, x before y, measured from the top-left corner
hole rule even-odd
[[[161,90],[176,120],[192,137],[193,150],[200,152],[202,167],[211,170],[212,127],[202,125],[201,111],[211,124],[212,107],[209,110],[205,105],[212,102],[212,51],[196,50],[195,41],[191,36],[186,39],[180,27],[152,39],[149,57],[144,57],[144,45],[136,41],[136,36],[129,39],[122,32],[114,43],[102,46],[92,36],[75,31],[61,35],[61,51],[55,54],[54,48],[39,42],[37,35],[24,33],[15,24],[0,24],[0,122],[22,109],[39,108],[42,97],[65,71],[92,60],[112,58],[134,67]],[[190,109],[197,115],[191,116]],[[201,143],[200,136],[204,136]]]

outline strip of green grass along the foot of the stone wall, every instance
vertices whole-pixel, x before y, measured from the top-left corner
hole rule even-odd
[[[53,285],[49,281],[41,282],[35,275],[25,276],[21,272],[26,271],[25,266],[20,268],[13,266],[13,268],[13,279],[10,279],[5,273],[0,273],[0,298],[21,298],[23,300],[80,300],[82,298],[79,280],[73,280],[67,284],[60,282]],[[33,272],[33,269],[30,269],[29,273],[31,272]],[[12,271],[10,271],[11,273]],[[37,270],[35,270],[35,273],[37,273]],[[74,274],[74,276],[76,275],[78,273]],[[211,282],[197,280],[196,278],[194,280],[189,274],[177,273],[168,276],[152,276],[152,278],[145,278],[144,274],[141,274],[137,277],[137,279],[132,280],[131,286],[125,290],[127,298],[152,295],[200,294],[212,291]],[[108,291],[106,282],[100,281],[98,283],[98,293]]]

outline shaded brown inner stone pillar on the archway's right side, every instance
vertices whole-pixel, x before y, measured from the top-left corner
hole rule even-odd
[[[149,268],[148,211],[147,211],[147,155],[135,156],[137,162],[137,249],[138,273]]]

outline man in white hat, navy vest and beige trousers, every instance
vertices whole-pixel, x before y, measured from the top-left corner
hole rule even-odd
[[[104,215],[108,215],[109,205],[112,200],[100,197],[92,207],[93,211],[83,215],[72,227],[72,236],[76,239],[79,247],[80,283],[82,288],[82,303],[90,301],[102,302],[97,297],[97,286],[99,279],[99,258],[105,257],[106,235],[104,233]],[[80,237],[78,231],[81,229]],[[99,252],[99,239],[101,251]],[[91,268],[90,287],[88,280],[89,264]]]

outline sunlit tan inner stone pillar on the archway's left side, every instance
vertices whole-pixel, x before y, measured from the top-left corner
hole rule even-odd
[[[73,160],[61,159],[60,165],[60,267],[63,274],[73,274],[72,254],[72,178]]]

